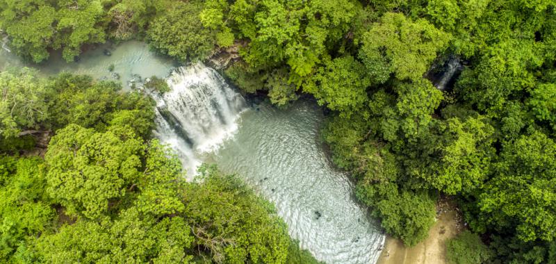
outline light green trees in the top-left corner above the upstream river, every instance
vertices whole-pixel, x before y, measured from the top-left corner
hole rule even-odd
[[[12,39],[12,47],[35,63],[49,58],[48,49],[63,48],[63,57],[73,61],[81,45],[101,43],[106,15],[102,2],[94,1],[0,1],[0,24]]]

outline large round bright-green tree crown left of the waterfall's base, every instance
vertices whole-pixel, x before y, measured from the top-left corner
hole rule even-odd
[[[133,133],[94,133],[81,126],[60,129],[45,160],[49,193],[70,215],[95,219],[108,213],[108,201],[120,199],[136,182],[142,142]]]

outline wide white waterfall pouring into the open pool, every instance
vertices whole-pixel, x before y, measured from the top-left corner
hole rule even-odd
[[[156,136],[174,149],[193,176],[199,156],[217,149],[238,129],[245,99],[202,63],[175,69],[167,83],[170,92],[153,94]]]

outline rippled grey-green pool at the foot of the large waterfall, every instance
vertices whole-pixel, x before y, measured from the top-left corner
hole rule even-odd
[[[288,110],[261,104],[243,114],[214,160],[270,199],[293,238],[327,263],[375,263],[384,242],[377,222],[353,199],[347,175],[329,163],[313,102]]]

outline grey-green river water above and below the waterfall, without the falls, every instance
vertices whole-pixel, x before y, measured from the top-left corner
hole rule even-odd
[[[24,65],[13,53],[0,51],[0,69]],[[108,69],[111,65],[113,72]],[[47,62],[28,66],[46,76],[67,71],[120,81],[129,90],[139,77],[167,77],[178,65],[132,41],[91,49],[76,63],[65,63],[54,53]],[[210,151],[193,149],[193,154],[217,163],[226,173],[238,174],[272,201],[291,236],[318,260],[375,263],[384,234],[355,201],[347,174],[330,162],[319,136],[323,120],[322,109],[309,99],[285,110],[246,101],[233,119],[234,131]]]

